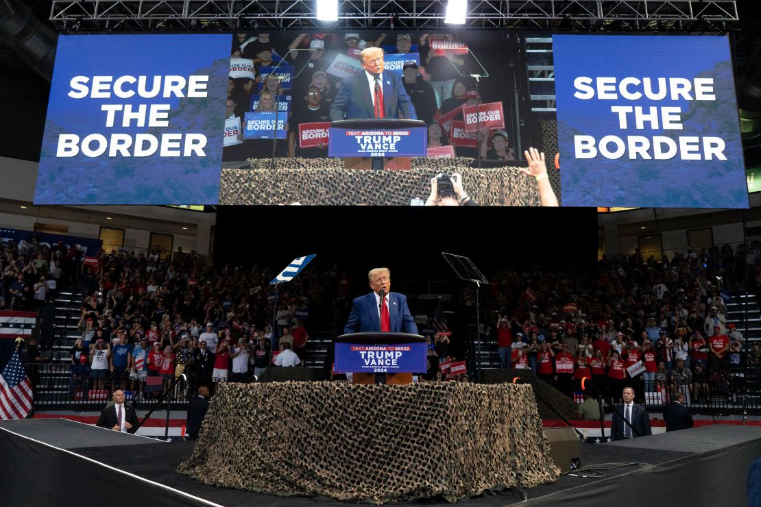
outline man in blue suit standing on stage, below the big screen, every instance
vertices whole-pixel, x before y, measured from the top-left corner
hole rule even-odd
[[[362,331],[392,331],[418,334],[418,326],[407,308],[407,298],[403,294],[389,292],[391,271],[375,268],[368,273],[371,293],[354,300],[352,313],[346,322],[345,334]],[[380,294],[384,294],[383,306]]]

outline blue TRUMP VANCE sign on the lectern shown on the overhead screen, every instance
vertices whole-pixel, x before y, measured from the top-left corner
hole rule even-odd
[[[330,128],[328,157],[425,157],[428,129],[354,130]]]

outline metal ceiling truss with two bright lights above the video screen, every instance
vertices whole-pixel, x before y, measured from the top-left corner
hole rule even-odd
[[[315,0],[53,0],[61,31],[263,28],[538,29],[725,32],[736,0],[470,0],[466,24],[444,24],[447,0],[339,0],[339,21],[317,21]]]

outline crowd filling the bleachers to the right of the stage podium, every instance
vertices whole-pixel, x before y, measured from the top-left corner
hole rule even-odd
[[[707,402],[711,385],[736,396],[745,366],[761,366],[761,347],[745,343],[726,303],[728,290],[756,290],[758,252],[758,245],[727,245],[662,262],[638,252],[603,257],[594,281],[502,271],[486,305],[500,365],[532,369],[569,396],[584,377],[608,398],[627,385],[651,403],[677,390]]]

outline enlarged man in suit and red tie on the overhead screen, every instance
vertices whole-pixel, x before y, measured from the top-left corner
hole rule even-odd
[[[384,71],[383,49],[362,49],[360,57],[365,71],[343,80],[330,106],[330,120],[418,119],[415,106],[404,89],[402,76]]]

